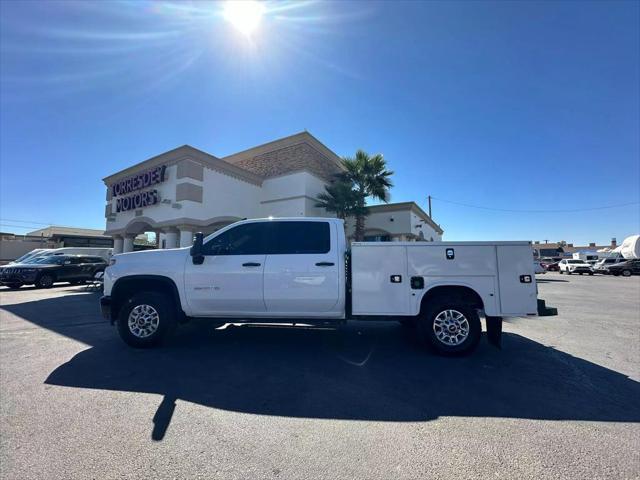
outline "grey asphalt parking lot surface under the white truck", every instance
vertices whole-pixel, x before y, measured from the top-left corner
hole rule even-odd
[[[638,478],[640,277],[538,278],[559,316],[459,359],[382,322],[136,351],[96,293],[3,289],[1,476]]]

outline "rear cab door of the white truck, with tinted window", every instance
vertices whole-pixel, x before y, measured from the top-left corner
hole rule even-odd
[[[274,221],[273,251],[264,269],[270,315],[330,315],[339,308],[336,226],[323,221]],[[333,240],[333,241],[332,241]]]

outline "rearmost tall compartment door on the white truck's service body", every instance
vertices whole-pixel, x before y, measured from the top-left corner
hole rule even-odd
[[[529,245],[498,245],[498,285],[502,315],[535,315],[538,311],[536,276]],[[531,283],[526,283],[526,276]]]

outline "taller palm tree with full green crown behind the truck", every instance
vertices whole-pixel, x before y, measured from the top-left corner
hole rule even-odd
[[[366,199],[370,197],[387,203],[389,189],[393,186],[390,179],[393,172],[387,170],[387,163],[382,154],[370,156],[364,150],[358,150],[354,158],[343,158],[342,164],[345,171],[339,174],[340,179],[347,185],[352,185],[353,190],[358,193],[358,207],[352,215],[356,218],[355,239],[362,241],[364,218],[368,213],[365,206]]]

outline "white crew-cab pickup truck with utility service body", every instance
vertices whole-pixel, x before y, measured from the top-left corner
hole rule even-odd
[[[189,318],[339,324],[396,320],[444,355],[499,346],[502,317],[553,315],[537,299],[530,242],[358,242],[342,220],[244,220],[192,247],[115,255],[103,315],[133,347]]]

